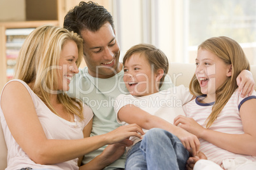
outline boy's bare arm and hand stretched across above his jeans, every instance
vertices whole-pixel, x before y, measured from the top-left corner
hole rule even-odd
[[[138,124],[144,129],[165,129],[166,131],[176,135],[188,151],[191,151],[190,149],[192,148],[192,154],[196,155],[196,153],[199,151],[200,142],[196,136],[187,133],[187,131],[174,126],[160,117],[148,114],[148,112],[141,110],[141,108],[138,108],[135,105],[125,105],[124,107],[120,108],[118,111],[118,119],[129,124]]]

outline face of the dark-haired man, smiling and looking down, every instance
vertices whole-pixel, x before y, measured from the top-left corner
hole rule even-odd
[[[122,70],[119,64],[120,48],[110,23],[96,32],[82,30],[83,53],[89,74],[106,79]]]

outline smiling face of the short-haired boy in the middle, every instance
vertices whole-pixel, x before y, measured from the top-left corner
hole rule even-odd
[[[124,82],[133,96],[146,96],[158,92],[157,74],[144,55],[135,53],[125,61]]]

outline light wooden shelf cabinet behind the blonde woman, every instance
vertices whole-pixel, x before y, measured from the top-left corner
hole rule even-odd
[[[26,16],[24,21],[0,22],[0,93],[4,84],[11,78],[11,69],[15,65],[15,54],[13,56],[11,53],[13,53],[13,49],[20,48],[19,44],[22,44],[22,42],[18,42],[18,45],[16,43],[13,46],[11,41],[13,39],[22,41],[27,35],[27,31],[41,25],[62,25],[66,13],[63,8],[64,0],[25,0],[24,3]],[[17,55],[17,51],[14,52]]]

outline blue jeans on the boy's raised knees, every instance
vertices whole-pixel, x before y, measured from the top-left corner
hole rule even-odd
[[[125,169],[186,169],[188,151],[164,129],[150,129],[127,153]]]

